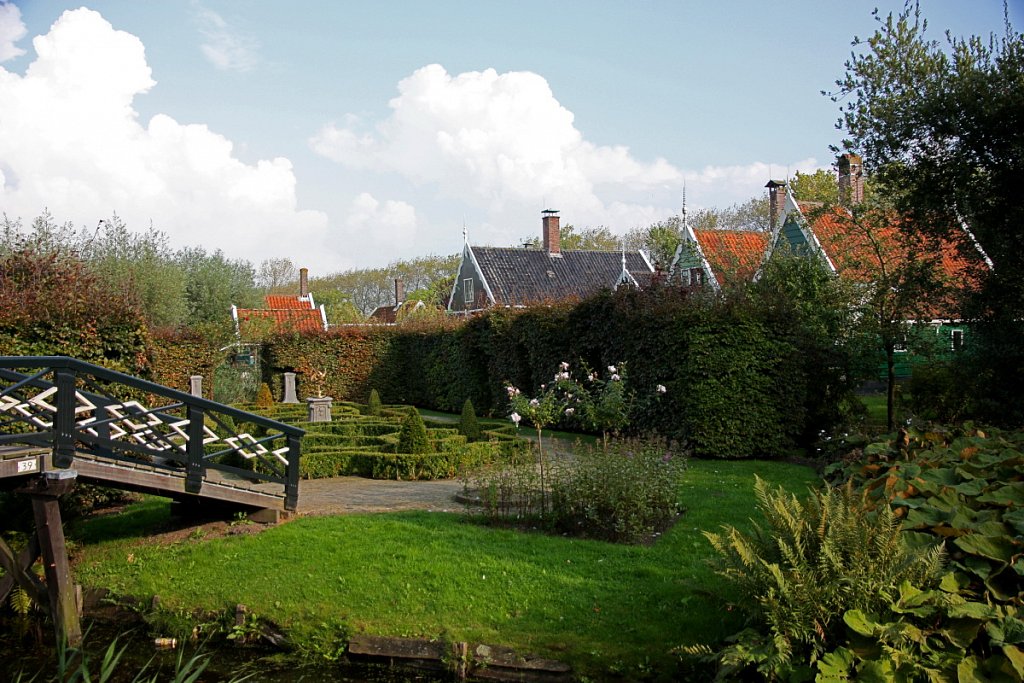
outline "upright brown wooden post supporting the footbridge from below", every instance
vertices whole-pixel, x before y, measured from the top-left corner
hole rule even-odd
[[[57,638],[63,638],[71,647],[82,644],[82,624],[78,616],[75,585],[71,580],[71,564],[68,561],[68,547],[65,544],[57,498],[75,487],[77,477],[75,470],[51,470],[20,489],[32,498],[32,512],[36,518],[36,537],[43,557],[53,628]]]

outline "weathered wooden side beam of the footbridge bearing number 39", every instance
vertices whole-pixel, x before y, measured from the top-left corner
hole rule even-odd
[[[0,485],[55,470],[48,449],[32,446],[0,446]],[[71,469],[79,480],[118,488],[128,488],[179,500],[216,499],[228,503],[283,510],[285,496],[280,486],[250,481],[227,472],[208,470],[198,494],[185,492],[185,472],[168,470],[144,463],[129,463],[91,454],[75,454]]]

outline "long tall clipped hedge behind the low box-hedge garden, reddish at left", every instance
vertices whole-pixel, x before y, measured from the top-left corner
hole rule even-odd
[[[265,356],[275,376],[328,369],[336,398],[358,400],[374,387],[385,402],[457,413],[468,397],[496,416],[507,414],[509,382],[531,393],[563,360],[626,362],[633,431],[683,440],[702,457],[773,457],[833,427],[857,378],[847,350],[821,333],[824,312],[762,290],[605,292],[462,322],[280,336]]]

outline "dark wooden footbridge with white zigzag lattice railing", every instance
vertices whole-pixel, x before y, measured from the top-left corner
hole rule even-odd
[[[32,498],[37,528],[17,557],[0,539],[0,599],[16,583],[48,601],[58,633],[76,644],[81,630],[57,505],[76,480],[293,511],[303,434],[75,358],[0,356],[0,487]],[[40,553],[45,587],[28,570]]]

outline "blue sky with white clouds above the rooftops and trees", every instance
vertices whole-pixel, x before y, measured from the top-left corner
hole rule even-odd
[[[0,212],[312,275],[624,234],[830,168],[855,36],[900,0],[0,0]],[[922,0],[928,35],[1004,33]],[[1024,23],[1024,0],[1010,0]]]

